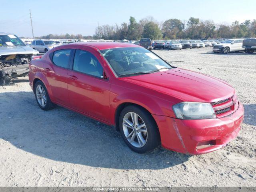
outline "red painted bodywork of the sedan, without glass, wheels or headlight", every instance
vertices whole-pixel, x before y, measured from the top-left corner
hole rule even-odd
[[[99,52],[102,49],[118,47],[140,46],[115,42],[86,42],[53,48],[41,59],[32,60],[30,85],[33,87],[34,80],[40,79],[45,84],[52,102],[109,125],[115,125],[116,110],[120,104],[129,102],[140,105],[148,110],[156,121],[162,146],[177,152],[211,152],[236,137],[244,115],[243,106],[238,104],[236,98],[233,98],[234,111],[218,118],[180,120],[175,118],[172,111],[174,104],[184,101],[211,103],[229,98],[228,102],[232,102],[235,90],[227,82],[180,68],[118,78]],[[87,50],[94,54],[108,79],[54,65],[49,54],[67,48]],[[49,70],[45,70],[46,68]],[[70,75],[76,76],[77,79],[70,79]],[[215,140],[216,144],[196,149],[198,143],[210,140]]]

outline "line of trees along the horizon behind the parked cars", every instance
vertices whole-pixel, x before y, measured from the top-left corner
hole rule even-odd
[[[200,20],[190,17],[187,21],[168,19],[162,23],[152,16],[138,22],[130,17],[129,22],[121,25],[102,25],[96,27],[93,36],[53,35],[41,36],[45,39],[105,39],[140,40],[140,38],[158,39],[201,39],[201,38],[251,38],[256,37],[256,20],[235,21],[231,25],[215,24],[212,20]]]

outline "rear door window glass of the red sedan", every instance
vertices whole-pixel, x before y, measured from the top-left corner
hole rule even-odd
[[[52,56],[52,62],[57,66],[68,68],[70,52],[71,49],[62,49],[55,51]]]

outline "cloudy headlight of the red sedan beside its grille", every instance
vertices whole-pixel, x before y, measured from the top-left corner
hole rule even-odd
[[[182,102],[172,106],[176,118],[179,119],[210,119],[216,118],[210,103]]]

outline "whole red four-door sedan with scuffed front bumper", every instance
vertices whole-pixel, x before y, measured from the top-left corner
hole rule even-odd
[[[227,82],[171,66],[137,45],[74,43],[30,64],[43,110],[56,104],[112,125],[138,153],[162,145],[189,154],[222,148],[244,116]]]

